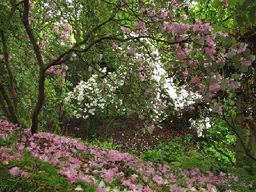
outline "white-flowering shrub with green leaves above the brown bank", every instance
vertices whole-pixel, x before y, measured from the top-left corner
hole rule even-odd
[[[104,112],[107,117],[129,117],[135,113],[144,121],[145,130],[152,132],[167,117],[164,110],[170,103],[162,98],[169,96],[160,97],[159,82],[154,78],[155,65],[143,61],[142,57],[137,62],[126,59],[128,62],[115,72],[107,73],[105,68],[99,68],[99,73],[87,82],[80,81],[66,97],[66,103],[73,104],[77,118],[87,119],[96,111]]]

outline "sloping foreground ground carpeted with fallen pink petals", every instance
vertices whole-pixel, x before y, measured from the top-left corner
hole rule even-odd
[[[21,133],[19,135],[18,133]],[[16,142],[4,145],[7,140]],[[1,142],[2,141],[2,142]],[[3,142],[5,141],[5,142]],[[9,142],[10,143],[10,142]],[[14,160],[22,161],[24,153],[30,153],[40,161],[52,164],[60,175],[71,183],[85,181],[96,186],[96,191],[234,191],[231,184],[243,182],[235,176],[221,172],[214,175],[199,169],[191,171],[172,170],[168,165],[153,165],[129,153],[99,149],[77,139],[39,132],[30,135],[30,130],[20,130],[11,123],[0,120],[1,163],[8,166]],[[33,163],[33,162],[31,162]],[[14,176],[30,178],[33,168],[10,167]],[[43,171],[41,172],[43,174]],[[221,186],[221,187],[220,187]],[[82,188],[69,189],[85,190]]]

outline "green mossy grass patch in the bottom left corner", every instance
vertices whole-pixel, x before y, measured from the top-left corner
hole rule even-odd
[[[0,191],[72,191],[65,177],[60,176],[57,167],[34,158],[30,153],[24,153],[22,160],[10,161],[8,165],[0,164]],[[30,170],[30,177],[11,176],[8,169],[21,167]]]

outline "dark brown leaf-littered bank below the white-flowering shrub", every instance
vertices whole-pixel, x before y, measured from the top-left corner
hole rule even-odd
[[[181,118],[176,118],[176,122],[172,120],[171,123],[166,123],[162,129],[156,127],[152,134],[147,130],[143,132],[144,121],[141,121],[138,116],[116,121],[98,120],[98,124],[93,129],[87,128],[84,119],[73,118],[63,122],[62,130],[66,135],[75,135],[75,137],[85,140],[108,140],[112,144],[121,146],[120,150],[122,152],[139,154],[153,149],[159,140],[167,141],[176,136],[184,140],[185,135],[196,138],[196,130],[189,129],[184,123],[177,121],[179,119]]]

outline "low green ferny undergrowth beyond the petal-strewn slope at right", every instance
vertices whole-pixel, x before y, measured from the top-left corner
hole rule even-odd
[[[222,133],[223,132],[225,132],[225,130],[222,130]],[[228,133],[231,134],[230,132]],[[208,135],[208,137],[211,136]],[[228,149],[228,144],[232,144],[234,138],[232,138],[231,135],[226,135],[225,138],[228,139],[228,143],[224,145],[226,140],[223,140],[219,142],[218,147],[220,150],[225,151],[226,155],[231,155],[233,160],[234,152]],[[210,146],[208,146],[204,141],[199,142],[198,146],[203,145],[203,150],[201,150],[191,142],[194,142],[191,135],[185,135],[183,141],[179,137],[169,139],[167,142],[161,141],[154,149],[142,153],[140,158],[155,163],[168,163],[176,167],[176,169],[180,167],[182,169],[191,170],[199,167],[202,171],[218,173],[220,171],[230,171],[233,168],[232,163],[223,153],[218,153],[217,151],[219,150],[213,150],[213,143],[209,143]]]

